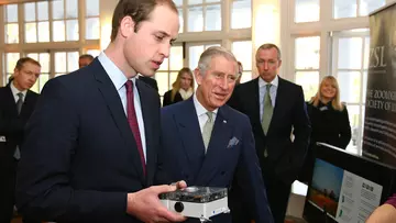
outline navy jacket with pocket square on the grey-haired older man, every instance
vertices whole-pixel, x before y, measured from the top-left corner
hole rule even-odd
[[[273,222],[246,115],[228,105],[219,108],[207,154],[193,97],[163,108],[161,118],[158,182],[185,180],[188,186],[230,188],[237,177],[243,182],[245,198],[256,210],[256,223]],[[232,138],[238,143],[232,143]],[[227,223],[231,216],[221,214],[212,221]]]

